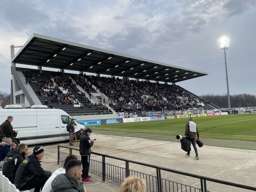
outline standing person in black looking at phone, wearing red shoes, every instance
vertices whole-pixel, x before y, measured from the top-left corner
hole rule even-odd
[[[92,130],[87,128],[83,131],[83,134],[80,137],[80,145],[79,152],[81,155],[81,161],[83,163],[83,172],[82,172],[82,182],[90,183],[93,180],[89,179],[89,166],[90,166],[90,154],[92,150],[90,150],[91,146],[93,146],[94,140],[90,140],[90,135],[92,134]]]

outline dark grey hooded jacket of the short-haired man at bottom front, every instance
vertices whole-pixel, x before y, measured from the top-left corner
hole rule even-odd
[[[50,192],[84,192],[83,182],[67,174],[59,174],[52,181]]]

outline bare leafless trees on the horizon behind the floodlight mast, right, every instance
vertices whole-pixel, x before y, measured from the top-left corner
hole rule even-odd
[[[208,94],[200,97],[218,105],[221,108],[228,108],[227,95]],[[230,95],[231,108],[256,107],[256,96],[250,94]]]

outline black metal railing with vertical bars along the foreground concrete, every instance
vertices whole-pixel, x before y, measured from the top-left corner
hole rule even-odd
[[[69,153],[60,151],[60,148],[69,149]],[[60,162],[64,162],[65,158],[68,155],[72,154],[73,150],[79,151],[79,149],[77,149],[77,148],[71,148],[71,147],[67,147],[67,146],[63,146],[63,145],[58,145],[58,164]],[[177,171],[175,169],[168,169],[165,167],[154,166],[154,165],[150,165],[147,163],[141,163],[141,162],[137,162],[137,161],[133,161],[133,160],[127,160],[127,159],[123,159],[123,158],[119,158],[119,157],[112,157],[112,156],[109,156],[106,154],[100,154],[100,153],[96,153],[96,152],[92,152],[92,154],[102,157],[102,161],[90,159],[89,172],[102,177],[102,181],[105,181],[105,179],[108,179],[108,180],[113,180],[117,183],[122,183],[122,181],[126,177],[133,175],[133,176],[145,179],[146,185],[147,185],[147,191],[150,191],[150,192],[179,192],[179,191],[180,192],[183,192],[183,191],[184,192],[210,192],[207,189],[207,181],[226,185],[223,187],[223,189],[227,186],[234,186],[234,187],[241,188],[241,189],[248,189],[248,190],[256,191],[256,187],[253,187],[253,186],[247,186],[247,185],[232,183],[232,182],[228,182],[228,181],[224,181],[224,180],[218,180],[218,179],[214,179],[214,178],[210,178],[210,177],[204,177],[201,175],[195,175],[195,174],[191,174],[191,173],[187,173],[187,172],[181,172],[181,171]],[[76,155],[76,156],[78,157],[79,160],[81,160],[81,156],[79,156],[79,155]],[[106,163],[106,158],[110,158],[111,161],[113,161],[113,159],[115,159],[115,160],[124,162],[125,168]],[[149,175],[149,174],[139,172],[136,170],[131,170],[131,169],[129,169],[130,163],[145,166],[147,168],[153,168],[156,170],[156,175]],[[175,181],[162,178],[161,173],[163,173],[163,172],[164,173],[169,172],[169,173],[174,173],[174,174],[178,174],[178,175],[197,178],[198,180],[200,180],[200,188],[195,187],[195,186],[189,186],[189,185],[183,184],[183,183],[177,183]],[[218,191],[221,191],[221,190],[218,190]]]

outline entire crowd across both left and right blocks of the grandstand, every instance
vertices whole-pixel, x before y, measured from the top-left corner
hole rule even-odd
[[[119,79],[118,77],[72,75],[61,72],[40,73],[36,70],[23,70],[26,81],[35,83],[35,93],[38,96],[50,97],[53,103],[59,105],[82,105],[84,108],[97,106],[104,113],[111,112],[105,104],[91,103],[76,84],[79,84],[88,94],[101,92],[108,97],[110,108],[116,112],[129,111],[173,111],[188,108],[200,108],[196,98],[175,84],[159,84],[150,81]],[[93,88],[97,87],[97,90]],[[179,97],[182,97],[182,100]],[[104,98],[105,99],[105,98]],[[114,104],[113,104],[114,103]]]

